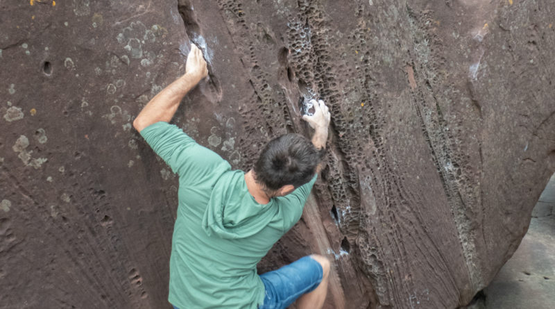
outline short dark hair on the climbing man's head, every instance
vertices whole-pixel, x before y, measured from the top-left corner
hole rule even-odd
[[[260,153],[255,179],[271,191],[284,185],[300,187],[314,176],[322,154],[300,134],[282,135],[268,142]]]

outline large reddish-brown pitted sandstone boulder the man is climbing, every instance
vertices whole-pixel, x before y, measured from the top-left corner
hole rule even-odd
[[[333,260],[325,308],[456,308],[495,276],[555,170],[547,0],[3,1],[0,303],[170,308],[178,179],[131,122],[174,119],[237,169],[303,98],[332,111],[302,220],[259,265]]]

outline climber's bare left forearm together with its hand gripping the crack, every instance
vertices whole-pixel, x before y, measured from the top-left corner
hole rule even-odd
[[[133,121],[135,129],[140,133],[144,128],[156,122],[170,122],[185,94],[207,74],[208,69],[202,51],[195,44],[191,44],[191,51],[185,65],[185,75],[165,87],[146,104]]]

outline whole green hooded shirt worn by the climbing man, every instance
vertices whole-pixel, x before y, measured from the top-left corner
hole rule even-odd
[[[141,135],[179,175],[169,302],[180,309],[257,308],[264,284],[256,265],[300,219],[316,176],[262,205],[249,194],[244,172],[177,126],[157,122]]]

